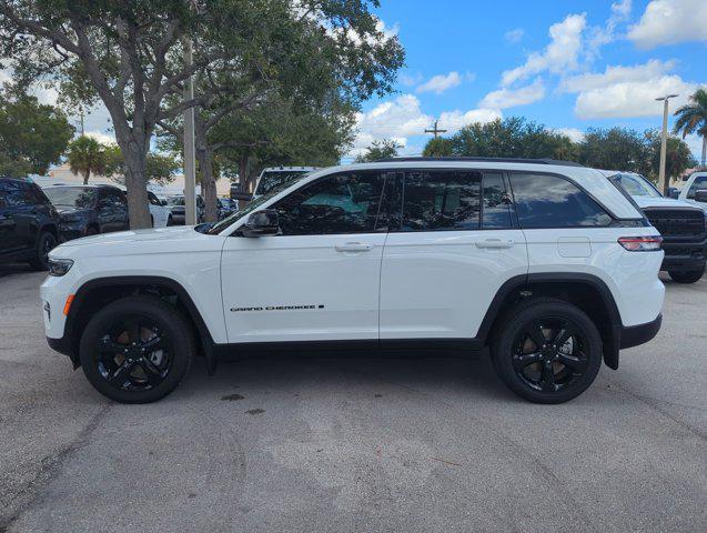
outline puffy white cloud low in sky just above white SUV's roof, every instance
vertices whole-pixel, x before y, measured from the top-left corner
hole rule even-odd
[[[440,128],[446,129],[447,134],[457,132],[464,125],[473,122],[488,122],[501,118],[497,109],[473,109],[468,111],[453,110],[440,114]],[[363,152],[373,141],[393,139],[404,147],[405,151],[416,150],[408,138],[424,135],[425,129],[434,123],[435,118],[425,114],[420,100],[414,94],[401,94],[393,100],[381,102],[371,111],[356,113],[357,134],[350,155]],[[407,148],[410,147],[410,148]]]

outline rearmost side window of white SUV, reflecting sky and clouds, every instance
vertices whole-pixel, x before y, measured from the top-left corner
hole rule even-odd
[[[569,180],[549,174],[511,173],[521,228],[605,227],[612,217]]]

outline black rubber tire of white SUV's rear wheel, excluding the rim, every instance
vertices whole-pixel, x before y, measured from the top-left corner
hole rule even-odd
[[[514,341],[528,321],[538,316],[558,316],[574,322],[586,342],[587,371],[568,389],[556,393],[535,391],[527,386],[513,368]],[[582,394],[594,382],[602,366],[602,336],[592,320],[578,308],[566,302],[538,302],[511,314],[501,329],[493,348],[493,364],[502,381],[516,394],[535,403],[563,403]]]

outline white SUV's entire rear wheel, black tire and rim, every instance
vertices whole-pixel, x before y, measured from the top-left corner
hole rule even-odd
[[[541,343],[544,348],[538,350]],[[516,305],[502,319],[492,358],[498,378],[519,396],[563,403],[594,382],[602,366],[602,336],[577,306],[538,298]]]

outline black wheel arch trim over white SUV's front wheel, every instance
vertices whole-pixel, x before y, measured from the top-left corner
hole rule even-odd
[[[180,282],[165,276],[121,275],[87,281],[77,291],[64,325],[64,338],[74,366],[79,365],[81,332],[92,313],[112,301],[135,294],[156,295],[180,309],[192,324],[198,345],[209,360],[212,359],[213,336],[189,291]]]

